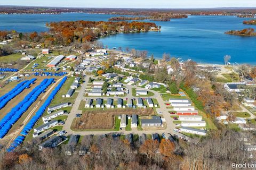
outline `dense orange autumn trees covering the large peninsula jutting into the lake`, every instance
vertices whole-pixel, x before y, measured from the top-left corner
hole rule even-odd
[[[158,30],[155,23],[150,22],[104,22],[104,21],[62,21],[46,23],[50,27],[49,40],[69,45],[74,41],[84,43],[94,41],[100,36],[118,32],[141,32]],[[51,38],[51,39],[50,39]]]

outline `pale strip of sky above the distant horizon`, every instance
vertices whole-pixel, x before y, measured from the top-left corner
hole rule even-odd
[[[256,0],[0,0],[0,5],[115,8],[256,7]]]

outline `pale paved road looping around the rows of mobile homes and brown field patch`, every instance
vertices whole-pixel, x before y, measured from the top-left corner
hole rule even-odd
[[[85,72],[83,73],[83,75],[85,75]],[[82,113],[82,111],[79,111],[78,110],[78,107],[79,107],[79,104],[81,103],[82,100],[86,100],[86,98],[92,98],[92,99],[95,99],[95,98],[98,98],[98,97],[85,97],[84,96],[84,91],[87,87],[87,83],[89,81],[89,78],[90,76],[86,76],[85,78],[85,82],[81,85],[81,90],[79,90],[79,94],[75,100],[75,103],[68,115],[68,118],[65,122],[65,124],[63,125],[63,130],[66,130],[68,134],[79,134],[79,135],[89,135],[89,134],[94,134],[94,135],[102,135],[102,134],[107,134],[107,133],[122,133],[122,134],[129,134],[129,133],[134,133],[134,134],[143,134],[143,133],[146,133],[146,134],[152,134],[152,133],[171,133],[173,134],[173,129],[175,129],[175,125],[173,124],[173,120],[172,118],[170,117],[170,114],[168,111],[170,111],[169,109],[166,108],[166,105],[164,104],[164,101],[162,99],[162,97],[158,94],[158,92],[154,91],[154,90],[150,90],[150,89],[147,89],[148,91],[151,91],[154,93],[154,96],[151,96],[151,98],[155,98],[157,99],[158,101],[158,104],[159,104],[159,108],[156,108],[156,111],[157,112],[162,112],[163,113],[163,116],[165,118],[165,121],[166,121],[166,124],[167,124],[167,128],[165,130],[147,130],[147,131],[139,131],[137,130],[137,128],[132,128],[132,131],[73,131],[70,129],[70,126],[74,120],[74,118],[76,117],[76,114],[77,113]],[[131,86],[131,85],[127,85],[127,84],[124,84],[124,86],[129,89],[129,94],[125,97],[111,97],[113,99],[117,99],[117,98],[138,98],[138,97],[134,97],[132,96],[132,88],[135,87],[135,86]],[[139,90],[142,90],[143,88],[140,88],[140,87],[136,87],[137,89]],[[145,89],[143,89],[145,90]],[[102,96],[100,98],[103,98],[103,99],[107,99],[109,97],[106,97],[106,96]]]

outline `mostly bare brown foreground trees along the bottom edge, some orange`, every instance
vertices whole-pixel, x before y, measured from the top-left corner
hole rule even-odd
[[[37,142],[25,143],[14,152],[0,152],[3,170],[85,170],[85,169],[231,169],[232,163],[252,163],[255,154],[246,151],[239,133],[229,129],[209,132],[197,145],[183,141],[147,138],[132,142],[117,134],[93,137],[86,135],[78,145],[38,150]],[[252,135],[246,137],[251,140]],[[184,150],[184,152],[182,152]],[[90,153],[90,154],[89,154]],[[253,155],[250,155],[250,154]]]

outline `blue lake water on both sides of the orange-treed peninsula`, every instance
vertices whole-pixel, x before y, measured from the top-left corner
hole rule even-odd
[[[0,15],[1,30],[21,32],[47,31],[46,22],[52,21],[107,21],[115,15],[63,13],[59,15],[25,14]],[[230,55],[231,63],[256,64],[256,37],[225,35],[227,30],[254,28],[244,25],[244,18],[236,16],[189,16],[187,19],[172,19],[170,22],[155,22],[162,26],[160,32],[119,33],[101,38],[108,47],[126,47],[147,50],[148,55],[162,58],[163,53],[191,58],[198,63],[223,63],[223,56]]]

